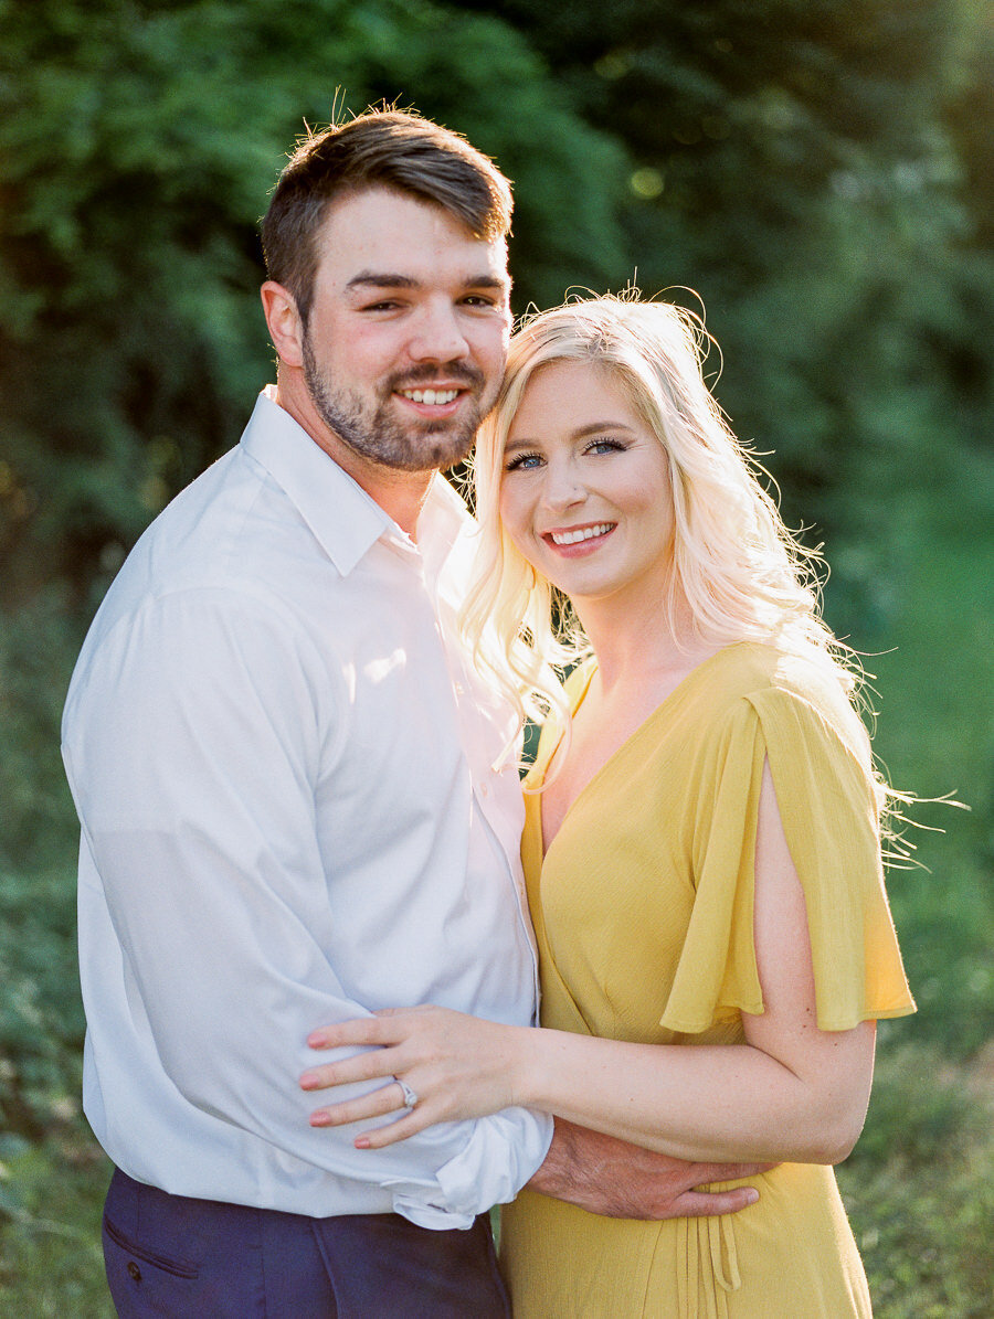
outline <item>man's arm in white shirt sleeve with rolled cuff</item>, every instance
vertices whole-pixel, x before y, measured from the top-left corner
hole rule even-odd
[[[343,1178],[425,1227],[469,1225],[539,1165],[548,1119],[508,1109],[356,1150],[354,1133],[309,1125],[294,1084],[309,1029],[366,1013],[322,939],[337,914],[314,782],[337,707],[326,658],[268,599],[180,592],[87,652],[65,752],[92,860],[91,1053],[108,1096],[120,1082],[168,1101],[177,1177],[198,1175],[201,1140],[240,1150],[239,1177],[309,1186],[312,1204]]]

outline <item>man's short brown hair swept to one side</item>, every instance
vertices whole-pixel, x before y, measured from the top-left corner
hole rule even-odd
[[[511,230],[508,181],[451,129],[409,111],[370,109],[310,133],[280,175],[261,223],[267,273],[289,289],[305,323],[318,265],[314,240],[329,204],[367,187],[434,202],[487,241]]]

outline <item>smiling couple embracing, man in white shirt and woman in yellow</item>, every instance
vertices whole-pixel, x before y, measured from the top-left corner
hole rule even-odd
[[[510,220],[414,115],[300,145],[276,384],[81,654],[121,1315],[870,1312],[830,1165],[913,1004],[854,675],[690,318],[510,338]]]

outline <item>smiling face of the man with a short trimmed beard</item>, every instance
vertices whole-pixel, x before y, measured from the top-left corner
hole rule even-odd
[[[466,458],[507,356],[507,244],[383,187],[335,202],[317,243],[302,353],[321,419],[383,467]]]

